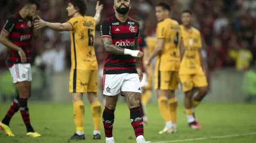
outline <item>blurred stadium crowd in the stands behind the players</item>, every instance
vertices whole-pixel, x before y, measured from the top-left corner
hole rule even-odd
[[[0,27],[6,19],[17,12],[25,1],[2,1]],[[46,21],[64,22],[68,20],[66,12],[67,0],[41,0],[40,16]],[[155,35],[154,6],[160,0],[132,1],[130,16],[145,18],[147,35]],[[184,9],[191,9],[193,25],[201,31],[205,57],[209,70],[223,67],[236,67],[244,70],[250,67],[256,59],[255,18],[256,2],[252,0],[173,0],[167,1],[171,5],[171,15],[180,22],[180,14]],[[101,2],[102,3],[102,2]],[[104,18],[114,13],[113,1],[103,1]],[[87,15],[95,14],[96,0],[87,0]],[[99,67],[104,63],[104,50],[100,41],[100,24],[97,25],[96,53]],[[70,61],[70,36],[69,32],[54,32],[44,29],[39,40],[34,40],[35,63],[43,63],[48,72],[61,72],[71,66]],[[0,68],[7,68],[5,60],[6,47],[0,45]]]

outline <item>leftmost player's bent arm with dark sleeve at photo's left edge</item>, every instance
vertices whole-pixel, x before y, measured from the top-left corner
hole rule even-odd
[[[5,25],[4,28],[2,29],[2,32],[0,34],[0,43],[8,47],[9,49],[12,50],[22,50],[19,46],[15,45],[13,42],[9,41],[9,35],[13,31],[13,28],[15,27],[15,20],[14,18],[9,18]]]

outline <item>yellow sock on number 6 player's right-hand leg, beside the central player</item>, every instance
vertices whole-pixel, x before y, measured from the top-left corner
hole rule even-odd
[[[92,113],[92,120],[94,121],[94,131],[100,131],[101,106],[99,101],[95,101],[91,103],[91,113]]]

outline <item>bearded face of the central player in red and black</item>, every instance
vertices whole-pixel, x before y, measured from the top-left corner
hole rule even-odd
[[[131,9],[130,0],[117,0],[114,4],[114,10],[121,15],[125,15]]]

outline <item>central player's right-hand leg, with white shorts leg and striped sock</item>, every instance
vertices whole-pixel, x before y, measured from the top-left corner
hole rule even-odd
[[[125,96],[127,106],[130,109],[130,121],[134,129],[137,143],[146,143],[144,139],[144,126],[141,108],[141,85],[138,74],[125,74],[122,84],[122,95]]]

